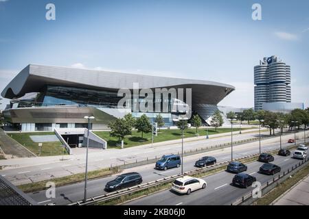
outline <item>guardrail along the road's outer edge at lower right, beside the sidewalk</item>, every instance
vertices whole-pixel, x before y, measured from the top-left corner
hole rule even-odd
[[[262,196],[273,190],[273,188],[285,181],[288,177],[290,177],[290,175],[295,174],[295,172],[297,172],[299,169],[306,166],[304,164],[308,163],[308,160],[308,157],[303,159],[302,161],[288,168],[287,171],[279,173],[277,177],[273,177],[273,179],[264,183],[261,187]],[[239,198],[237,201],[231,203],[231,205],[251,205],[255,201],[257,201],[257,198],[253,198],[253,192],[249,192],[242,196],[242,198]]]

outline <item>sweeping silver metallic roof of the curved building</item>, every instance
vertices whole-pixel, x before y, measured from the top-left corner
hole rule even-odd
[[[205,99],[205,94],[213,95],[211,103],[214,104],[235,90],[231,85],[214,81],[29,64],[4,88],[1,96],[8,99],[18,98],[29,92],[41,92],[45,85],[118,90],[133,89],[133,83],[139,83],[140,89],[192,88],[192,96],[196,95],[199,99]]]

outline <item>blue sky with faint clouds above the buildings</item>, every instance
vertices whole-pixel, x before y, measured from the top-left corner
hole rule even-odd
[[[45,5],[56,5],[56,21]],[[262,5],[262,21],[251,6]],[[0,0],[0,90],[27,64],[219,81],[219,105],[253,107],[253,66],[291,66],[292,101],[309,105],[309,1]],[[8,101],[3,100],[3,108]]]

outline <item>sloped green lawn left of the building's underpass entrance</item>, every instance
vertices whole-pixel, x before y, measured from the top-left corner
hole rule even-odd
[[[25,146],[32,153],[38,155],[39,147],[37,142],[33,142],[30,136],[48,136],[54,135],[54,132],[34,132],[34,133],[9,133],[8,136],[14,138],[17,142]],[[67,151],[62,149],[61,142],[43,142],[41,148],[41,156],[54,156],[67,154]]]

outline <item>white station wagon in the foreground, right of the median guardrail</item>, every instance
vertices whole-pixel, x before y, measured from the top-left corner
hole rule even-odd
[[[180,194],[190,194],[191,192],[199,189],[205,189],[207,183],[203,179],[194,177],[180,177],[172,184],[172,190]]]

